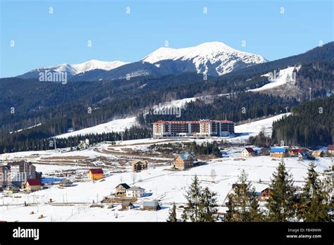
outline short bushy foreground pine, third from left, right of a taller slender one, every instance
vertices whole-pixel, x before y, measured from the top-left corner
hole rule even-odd
[[[210,191],[208,187],[205,187],[201,194],[199,204],[199,221],[200,222],[214,222],[214,214],[217,213],[217,199],[216,193]]]

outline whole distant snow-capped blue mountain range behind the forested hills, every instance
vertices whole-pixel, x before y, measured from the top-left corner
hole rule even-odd
[[[68,79],[75,81],[115,80],[125,77],[171,75],[184,72],[220,76],[265,62],[266,59],[262,56],[237,51],[222,42],[206,42],[184,49],[163,47],[134,63],[97,60],[75,65],[64,63],[48,68],[37,68],[18,77],[37,78],[39,73],[44,71],[66,72]]]

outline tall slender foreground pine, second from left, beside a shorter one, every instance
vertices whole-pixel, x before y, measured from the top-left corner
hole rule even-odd
[[[190,219],[192,222],[199,221],[199,203],[201,199],[202,188],[199,186],[199,180],[197,175],[194,176],[192,184],[186,191],[185,198],[187,199],[187,206],[183,211],[182,219],[187,221]]]

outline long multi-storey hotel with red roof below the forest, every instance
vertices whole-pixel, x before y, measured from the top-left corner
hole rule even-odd
[[[234,122],[230,120],[153,122],[154,139],[164,137],[226,137],[233,133]]]

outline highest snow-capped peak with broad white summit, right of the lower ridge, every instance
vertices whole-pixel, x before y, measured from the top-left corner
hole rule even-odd
[[[206,42],[184,49],[160,48],[142,59],[159,68],[179,66],[183,71],[223,75],[237,68],[266,62],[256,54],[238,51],[222,42]],[[166,63],[168,61],[168,63]],[[177,69],[177,68],[176,68]]]

